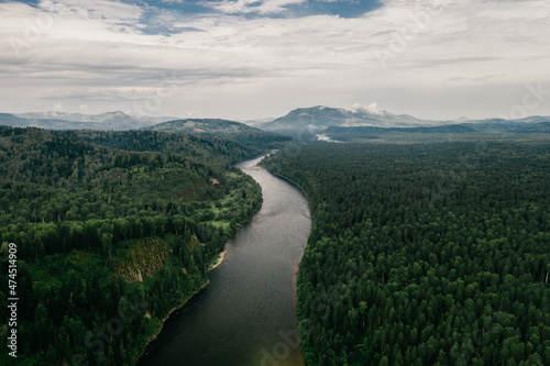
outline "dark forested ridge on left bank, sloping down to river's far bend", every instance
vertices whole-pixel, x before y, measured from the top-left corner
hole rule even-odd
[[[66,131],[68,136],[81,138],[111,148],[132,152],[158,152],[184,155],[202,164],[226,166],[261,155],[268,148],[243,146],[234,140],[218,140],[183,133],[155,131]]]

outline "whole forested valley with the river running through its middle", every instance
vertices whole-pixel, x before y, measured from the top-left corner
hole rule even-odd
[[[339,118],[0,127],[21,365],[544,365],[548,122]]]

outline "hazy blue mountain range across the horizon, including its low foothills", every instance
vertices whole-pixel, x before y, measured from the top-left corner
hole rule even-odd
[[[277,119],[246,121],[240,123],[217,119],[177,119],[173,117],[133,117],[122,112],[101,114],[80,113],[0,113],[0,124],[9,126],[36,126],[46,130],[151,130],[160,132],[188,133],[199,136],[233,138],[245,144],[261,143],[263,140],[276,141],[273,134],[289,134],[311,140],[329,132],[332,135],[380,134],[386,132],[419,133],[462,133],[462,132],[516,132],[549,133],[550,117],[528,117],[519,120],[486,119],[469,120],[461,118],[452,121],[417,119],[408,114],[378,113],[358,108],[345,110],[330,107],[299,108]],[[447,126],[447,129],[443,129]],[[338,129],[352,129],[346,132]],[[391,129],[388,131],[358,130],[358,127]],[[433,127],[433,129],[432,129]],[[418,130],[420,129],[420,130]],[[425,129],[425,130],[421,130]],[[430,130],[432,129],[432,130]],[[262,132],[263,130],[264,132]],[[248,136],[248,137],[246,137]],[[261,137],[260,137],[261,136]]]

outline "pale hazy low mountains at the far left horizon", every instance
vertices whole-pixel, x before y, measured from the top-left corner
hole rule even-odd
[[[0,113],[0,124],[19,127],[34,126],[45,130],[139,130],[175,119],[170,117],[133,117],[123,112],[101,114],[62,112]]]

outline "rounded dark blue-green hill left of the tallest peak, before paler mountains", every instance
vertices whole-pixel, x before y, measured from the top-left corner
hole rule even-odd
[[[230,138],[251,148],[280,148],[290,137],[262,131],[244,123],[219,119],[189,119],[160,123],[143,130]]]

